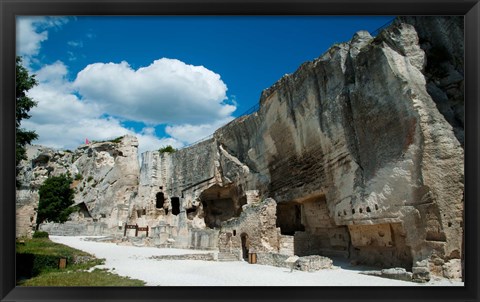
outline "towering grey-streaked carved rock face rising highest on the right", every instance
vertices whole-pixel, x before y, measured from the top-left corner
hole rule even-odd
[[[433,31],[447,30],[438,24]],[[257,113],[215,133],[229,157],[255,171],[248,182],[245,173],[229,179],[296,202],[301,215],[304,200],[324,194],[329,218],[349,226],[351,256],[363,262],[411,267],[458,257],[463,149],[427,89],[428,59],[415,27],[397,23],[303,64],[264,91]]]

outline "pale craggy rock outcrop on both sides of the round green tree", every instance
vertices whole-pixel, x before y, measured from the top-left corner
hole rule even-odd
[[[122,227],[138,188],[137,147],[133,136],[82,145],[73,152],[29,146],[18,178],[17,236],[31,235],[36,226],[38,189],[49,176],[60,174],[74,179],[74,200],[80,210],[64,226],[70,231],[49,224],[41,228],[52,234],[98,234]]]

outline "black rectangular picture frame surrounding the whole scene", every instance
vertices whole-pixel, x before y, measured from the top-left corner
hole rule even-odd
[[[465,16],[464,287],[15,287],[16,15]],[[477,301],[479,171],[478,0],[0,0],[1,301]],[[234,273],[234,272],[233,272]],[[254,276],[252,276],[253,278]]]

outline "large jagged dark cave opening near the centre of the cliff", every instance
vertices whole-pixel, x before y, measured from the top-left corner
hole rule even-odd
[[[234,186],[214,185],[200,195],[205,224],[209,228],[219,228],[222,222],[240,216],[242,205],[247,203],[244,196],[238,196]]]

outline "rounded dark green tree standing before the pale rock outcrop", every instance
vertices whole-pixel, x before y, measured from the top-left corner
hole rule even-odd
[[[40,223],[48,220],[65,222],[68,216],[77,210],[73,205],[73,179],[65,174],[47,178],[38,191],[37,229]]]

